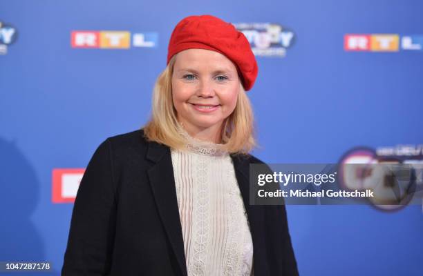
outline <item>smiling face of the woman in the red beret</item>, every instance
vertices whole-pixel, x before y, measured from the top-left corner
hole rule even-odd
[[[204,49],[178,52],[171,83],[178,120],[198,131],[220,129],[234,111],[241,88],[234,63]]]

